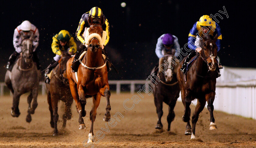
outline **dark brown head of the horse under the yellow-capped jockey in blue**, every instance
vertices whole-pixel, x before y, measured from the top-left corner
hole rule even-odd
[[[203,58],[204,62],[207,63],[208,70],[215,71],[218,66],[217,61],[217,45],[216,40],[218,36],[217,34],[215,37],[212,35],[202,35],[202,40],[200,41],[201,44],[201,57]]]

